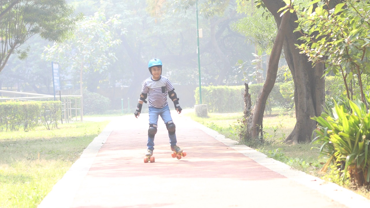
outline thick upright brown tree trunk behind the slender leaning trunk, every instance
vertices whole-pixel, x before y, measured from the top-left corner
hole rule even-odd
[[[276,24],[280,27],[282,18],[277,13],[279,8],[285,6],[283,0],[262,0],[267,9],[273,14]],[[293,32],[297,26],[295,13],[290,15],[290,20],[285,27],[286,36],[284,41],[284,54],[292,72],[294,81],[294,101],[296,110],[296,125],[285,142],[306,142],[311,141],[310,137],[316,128],[316,122],[311,118],[319,116],[324,104],[324,78],[322,78],[324,66],[317,64],[312,67],[304,54],[299,54],[295,44],[301,35]],[[273,65],[270,62],[270,65]]]

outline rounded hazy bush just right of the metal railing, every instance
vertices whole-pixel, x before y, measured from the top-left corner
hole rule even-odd
[[[98,93],[83,92],[84,114],[102,114],[109,109],[111,101]]]

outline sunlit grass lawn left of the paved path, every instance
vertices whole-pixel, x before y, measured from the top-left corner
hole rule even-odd
[[[37,207],[108,122],[0,132],[0,207]]]

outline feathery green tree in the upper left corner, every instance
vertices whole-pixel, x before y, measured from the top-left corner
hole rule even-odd
[[[61,42],[70,36],[81,15],[65,0],[1,0],[0,1],[0,71],[11,54],[27,58],[29,47],[24,42],[35,34],[45,40]]]

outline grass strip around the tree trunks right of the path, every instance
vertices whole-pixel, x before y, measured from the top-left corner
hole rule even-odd
[[[208,113],[207,118],[197,117],[194,112],[185,114],[192,120],[197,121],[218,131],[220,134],[232,140],[239,141],[239,125],[243,117],[242,113]],[[275,160],[284,162],[292,168],[306,172],[330,182],[334,182],[357,194],[370,199],[370,192],[364,188],[353,187],[349,180],[342,181],[335,167],[329,168],[326,174],[319,174],[319,170],[327,158],[320,157],[319,150],[313,144],[285,144],[283,140],[293,131],[296,119],[289,114],[283,114],[279,110],[273,111],[272,115],[263,118],[264,142],[250,146]],[[247,144],[248,145],[248,144]]]

